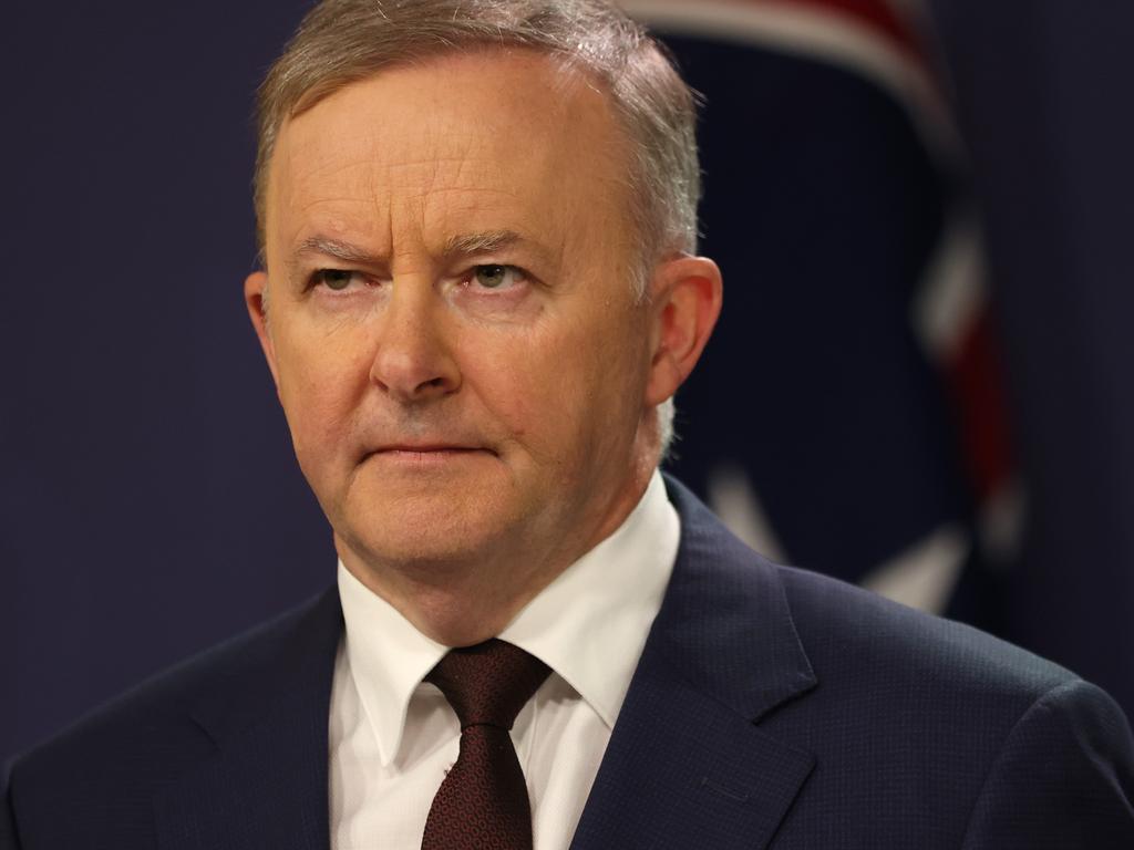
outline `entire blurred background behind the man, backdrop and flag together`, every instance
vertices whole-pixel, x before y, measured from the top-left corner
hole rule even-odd
[[[0,762],[333,578],[242,300],[307,6],[6,11]],[[669,467],[1134,713],[1134,6],[626,6],[703,94],[726,279]]]

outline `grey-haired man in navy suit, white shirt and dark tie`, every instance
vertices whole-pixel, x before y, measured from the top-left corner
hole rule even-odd
[[[657,473],[721,286],[629,22],[328,0],[261,119],[246,300],[337,587],[18,760],[5,847],[1134,845],[1105,694]]]

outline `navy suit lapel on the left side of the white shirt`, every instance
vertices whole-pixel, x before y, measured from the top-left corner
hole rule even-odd
[[[341,634],[330,590],[231,692],[198,704],[194,720],[217,753],[154,800],[161,850],[327,850],[328,713]],[[282,648],[281,648],[282,643]],[[256,661],[266,660],[256,673]]]

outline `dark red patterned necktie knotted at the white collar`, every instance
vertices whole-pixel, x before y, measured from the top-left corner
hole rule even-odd
[[[531,850],[532,807],[511,724],[551,672],[492,638],[451,649],[425,677],[460,721],[460,755],[433,798],[422,850]]]

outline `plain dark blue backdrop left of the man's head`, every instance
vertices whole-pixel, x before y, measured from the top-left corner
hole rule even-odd
[[[5,11],[0,757],[333,575],[242,290],[303,7]]]

